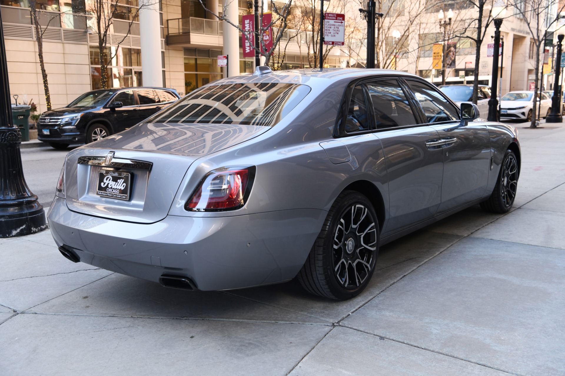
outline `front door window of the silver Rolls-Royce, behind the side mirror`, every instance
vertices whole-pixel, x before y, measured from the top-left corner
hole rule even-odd
[[[414,92],[414,96],[421,108],[428,123],[441,123],[445,121],[459,120],[459,111],[449,103],[441,93],[432,86],[418,81],[406,81]]]

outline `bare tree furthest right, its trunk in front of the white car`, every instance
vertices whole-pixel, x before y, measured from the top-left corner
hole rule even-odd
[[[509,3],[515,11],[514,13],[520,16],[530,32],[533,39],[533,44],[535,48],[535,59],[536,68],[534,74],[536,78],[534,98],[533,98],[533,108],[532,108],[532,122],[530,123],[530,128],[537,127],[537,100],[538,90],[540,84],[540,57],[541,48],[544,48],[545,41],[548,36],[553,38],[553,30],[557,24],[557,20],[560,18],[559,14],[565,10],[565,3],[559,0],[512,0]],[[557,68],[559,69],[559,68]],[[494,93],[493,93],[494,94]]]

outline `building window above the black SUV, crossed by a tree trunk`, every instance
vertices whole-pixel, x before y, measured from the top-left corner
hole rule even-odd
[[[110,59],[111,57],[111,59]],[[109,87],[142,86],[141,50],[138,48],[106,47],[106,78]],[[90,46],[90,78],[92,90],[101,89],[100,55],[97,46]]]

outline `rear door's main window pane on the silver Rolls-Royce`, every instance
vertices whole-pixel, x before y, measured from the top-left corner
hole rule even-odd
[[[402,87],[396,80],[367,84],[376,129],[415,125],[416,118]]]

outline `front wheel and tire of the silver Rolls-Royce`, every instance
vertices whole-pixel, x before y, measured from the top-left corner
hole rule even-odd
[[[481,202],[481,208],[489,213],[508,213],[514,204],[517,188],[518,160],[514,152],[507,150],[498,172],[494,191],[488,200]]]

